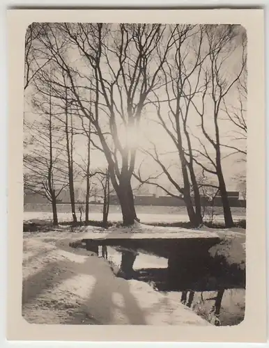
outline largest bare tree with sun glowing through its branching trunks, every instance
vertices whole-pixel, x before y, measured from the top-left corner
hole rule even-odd
[[[86,106],[89,102],[82,97],[82,90],[89,86],[77,86],[73,68],[66,63],[56,38],[53,43],[47,40],[46,46],[66,70],[74,99],[84,116],[91,119],[100,138],[109,175],[121,204],[123,223],[130,225],[137,218],[130,184],[137,153],[134,136],[146,98],[160,84],[159,74],[174,45],[174,32],[167,33],[167,26],[160,24],[62,24],[61,31],[73,47],[79,49],[93,71],[93,113]],[[161,52],[158,51],[160,41]],[[154,60],[156,53],[159,56],[157,63]],[[87,79],[85,74],[83,78]],[[107,118],[108,127],[101,121],[104,118]],[[121,129],[125,136],[121,136]]]

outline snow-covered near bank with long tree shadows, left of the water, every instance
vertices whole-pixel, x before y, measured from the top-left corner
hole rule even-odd
[[[106,260],[70,248],[72,235],[61,227],[24,232],[22,315],[28,322],[209,325],[178,296],[116,278]]]

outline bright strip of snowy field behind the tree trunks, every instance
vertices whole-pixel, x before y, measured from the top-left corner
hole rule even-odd
[[[77,215],[77,217],[79,218],[79,214]],[[32,219],[52,221],[52,213],[51,212],[24,212],[24,221],[28,221]],[[58,219],[60,222],[72,221],[72,214],[69,212],[64,212],[64,213],[59,212]],[[176,214],[176,213],[173,213],[173,214],[139,213],[139,219],[142,223],[176,223],[178,221],[180,222],[189,221],[187,214]],[[242,219],[245,219],[245,216],[233,214],[234,221],[240,221]],[[102,221],[102,213],[90,212],[89,220]],[[115,222],[115,221],[121,221],[121,220],[122,220],[121,212],[109,213],[109,221]],[[215,216],[214,221],[217,223],[223,223],[224,216],[217,215]]]

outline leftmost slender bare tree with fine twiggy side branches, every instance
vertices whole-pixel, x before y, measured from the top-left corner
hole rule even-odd
[[[43,96],[44,97],[44,96]],[[26,123],[31,134],[32,150],[24,157],[24,190],[38,193],[52,204],[53,224],[58,225],[57,198],[65,189],[66,172],[63,171],[63,159],[60,134],[54,125],[52,97],[33,100],[42,118],[40,122]]]

